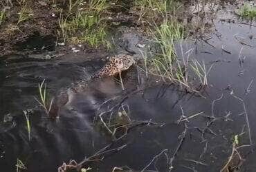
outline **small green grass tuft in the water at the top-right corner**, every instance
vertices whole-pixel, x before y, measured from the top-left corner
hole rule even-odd
[[[256,19],[256,6],[250,6],[248,3],[244,4],[239,10],[239,16],[248,20]]]

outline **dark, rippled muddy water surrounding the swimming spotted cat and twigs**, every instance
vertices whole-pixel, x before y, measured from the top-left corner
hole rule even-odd
[[[61,109],[60,118],[51,120],[35,101],[38,83],[46,79],[48,92],[53,95],[77,80],[89,80],[103,63],[87,59],[103,58],[106,54],[68,54],[54,60],[17,55],[1,61],[1,171],[15,171],[17,158],[26,164],[27,169],[23,171],[57,171],[62,162],[80,162],[84,156],[93,155],[110,143],[113,144],[109,149],[127,146],[107,153],[100,162],[87,163],[86,167],[91,167],[91,171],[111,171],[115,166],[128,166],[141,171],[167,149],[166,155],[160,155],[147,170],[168,171],[172,164],[172,171],[219,171],[230,156],[236,134],[244,132],[239,137],[239,145],[250,144],[246,116],[242,114],[244,109],[234,95],[244,100],[251,141],[256,142],[256,28],[219,19],[215,24],[217,31],[208,43],[189,41],[183,45],[184,50],[194,49],[190,58],[205,61],[208,66],[214,64],[205,98],[185,94],[174,86],[145,88],[136,77],[129,77],[136,76],[134,68],[124,77],[125,92],[114,79],[93,81],[96,83],[90,83],[84,92],[75,95],[70,106]],[[246,58],[239,61],[239,56]],[[137,87],[143,91],[129,94]],[[216,100],[222,94],[223,97]],[[147,120],[159,125],[134,127],[124,138],[113,142],[109,134],[93,125],[93,120],[102,109],[120,103],[118,100],[122,100],[123,95],[129,95],[122,105],[129,106],[127,113],[131,120]],[[121,99],[99,109],[105,100],[116,96]],[[190,118],[189,122],[179,122],[181,109],[185,116],[203,114]],[[24,110],[30,116],[30,141]],[[206,129],[212,120],[208,116],[212,114],[217,120]],[[181,138],[183,142],[175,153]],[[246,159],[240,170],[255,171],[255,153],[251,153],[250,147],[239,151]]]

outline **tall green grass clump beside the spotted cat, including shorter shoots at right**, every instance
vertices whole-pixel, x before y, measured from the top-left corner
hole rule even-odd
[[[189,92],[197,92],[189,80],[194,74],[198,76],[201,87],[208,85],[208,74],[213,65],[208,68],[204,62],[199,63],[197,60],[192,60],[190,64],[192,49],[183,52],[182,44],[186,36],[182,25],[175,20],[165,19],[161,25],[156,25],[152,32],[156,53],[152,58],[144,55],[145,72],[160,76],[165,83],[174,83]],[[181,56],[176,54],[178,46],[181,49]]]

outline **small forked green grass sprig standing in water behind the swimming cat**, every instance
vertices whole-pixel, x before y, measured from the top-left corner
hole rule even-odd
[[[51,111],[51,107],[53,105],[53,98],[51,99],[51,103],[48,104],[48,100],[46,97],[46,84],[44,83],[45,80],[43,80],[42,83],[38,84],[38,90],[39,90],[39,99],[35,98],[39,105],[41,105],[44,108],[44,111],[47,115],[49,115]]]

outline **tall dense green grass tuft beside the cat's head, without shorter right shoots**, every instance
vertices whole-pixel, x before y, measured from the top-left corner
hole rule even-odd
[[[188,87],[188,79],[184,75],[187,61],[185,58],[181,61],[176,57],[174,47],[175,43],[181,43],[183,34],[183,27],[176,22],[165,20],[162,25],[156,26],[153,41],[158,50],[150,64],[153,64],[151,72],[161,76],[165,82]]]

